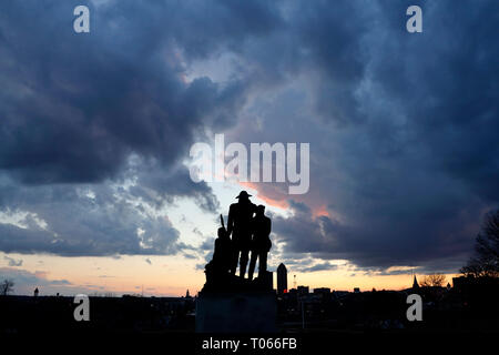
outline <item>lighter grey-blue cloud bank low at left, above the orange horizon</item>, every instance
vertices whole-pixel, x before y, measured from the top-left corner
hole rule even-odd
[[[18,223],[0,224],[0,250],[65,256],[175,254],[189,248],[166,215],[112,184],[43,186],[0,183],[2,205]]]

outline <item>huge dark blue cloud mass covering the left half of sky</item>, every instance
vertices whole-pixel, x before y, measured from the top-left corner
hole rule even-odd
[[[177,197],[218,209],[182,160],[205,129],[234,123],[247,89],[241,80],[187,82],[186,65],[271,31],[274,9],[263,1],[84,4],[84,34],[72,28],[77,3],[1,4],[0,212],[28,214],[22,225],[0,224],[0,250],[191,250],[164,212],[151,210]]]

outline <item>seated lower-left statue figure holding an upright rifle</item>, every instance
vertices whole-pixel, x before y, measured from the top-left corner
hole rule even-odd
[[[221,288],[228,282],[234,250],[228,233],[224,226],[224,220],[220,216],[222,227],[218,229],[218,237],[215,240],[215,250],[212,261],[206,265],[206,285],[208,288]]]

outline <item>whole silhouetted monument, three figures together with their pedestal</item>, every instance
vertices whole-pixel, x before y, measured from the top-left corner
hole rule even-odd
[[[213,257],[205,266],[206,283],[196,300],[196,332],[275,332],[276,295],[267,271],[272,221],[265,206],[249,197],[242,191],[230,206],[227,229],[221,215]],[[256,261],[258,274],[253,278]]]

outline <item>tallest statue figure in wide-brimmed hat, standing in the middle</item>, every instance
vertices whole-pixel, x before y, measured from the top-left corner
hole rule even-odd
[[[231,273],[234,275],[240,262],[240,276],[244,278],[248,262],[248,253],[252,242],[252,221],[256,212],[256,205],[249,201],[251,195],[246,191],[241,191],[236,197],[240,201],[231,204],[228,209],[227,233],[232,234],[234,255]],[[240,260],[241,254],[241,260]]]

